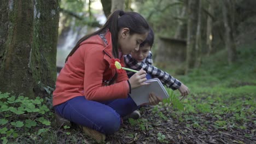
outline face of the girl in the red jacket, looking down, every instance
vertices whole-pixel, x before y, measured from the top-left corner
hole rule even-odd
[[[139,50],[141,44],[146,38],[148,33],[145,34],[130,34],[129,28],[123,28],[119,32],[118,46],[123,55],[128,55],[133,50]]]

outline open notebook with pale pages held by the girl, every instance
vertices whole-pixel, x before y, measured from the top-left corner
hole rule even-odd
[[[150,83],[150,85],[133,88],[131,90],[131,98],[137,105],[148,103],[149,93],[151,92],[162,99],[167,99],[169,97],[164,85],[162,85],[159,79],[150,79],[146,82]]]

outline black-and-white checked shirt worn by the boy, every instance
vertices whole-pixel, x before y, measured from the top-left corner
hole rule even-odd
[[[126,55],[124,56],[126,67],[135,70],[140,70],[143,68],[148,74],[152,75],[153,78],[158,78],[164,85],[173,90],[176,90],[179,87],[181,87],[181,82],[179,80],[175,79],[165,71],[162,71],[152,65],[152,56],[153,55],[150,51],[148,57],[144,59],[143,62],[137,62],[135,59],[131,57],[131,55]],[[134,74],[131,71],[126,72],[129,77]]]

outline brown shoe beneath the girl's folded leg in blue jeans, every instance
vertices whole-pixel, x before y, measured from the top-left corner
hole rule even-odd
[[[90,129],[88,127],[83,127],[82,125],[79,125],[79,128],[85,133],[85,135],[92,137],[98,143],[106,140],[106,135],[98,132],[97,130]]]

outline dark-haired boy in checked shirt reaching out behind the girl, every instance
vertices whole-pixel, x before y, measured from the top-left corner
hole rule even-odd
[[[139,45],[138,51],[133,51],[131,54],[124,57],[125,64],[127,68],[140,70],[143,68],[147,72],[147,79],[158,78],[164,85],[173,90],[178,89],[182,96],[189,94],[189,89],[179,80],[172,77],[170,74],[154,67],[152,61],[152,53],[150,51],[154,43],[154,32],[152,28],[149,28],[149,34],[147,38]],[[126,71],[127,75],[131,77],[134,73],[131,71]],[[137,113],[137,114],[136,114]],[[138,111],[130,114],[131,118],[139,118]],[[137,115],[137,116],[136,116]]]

